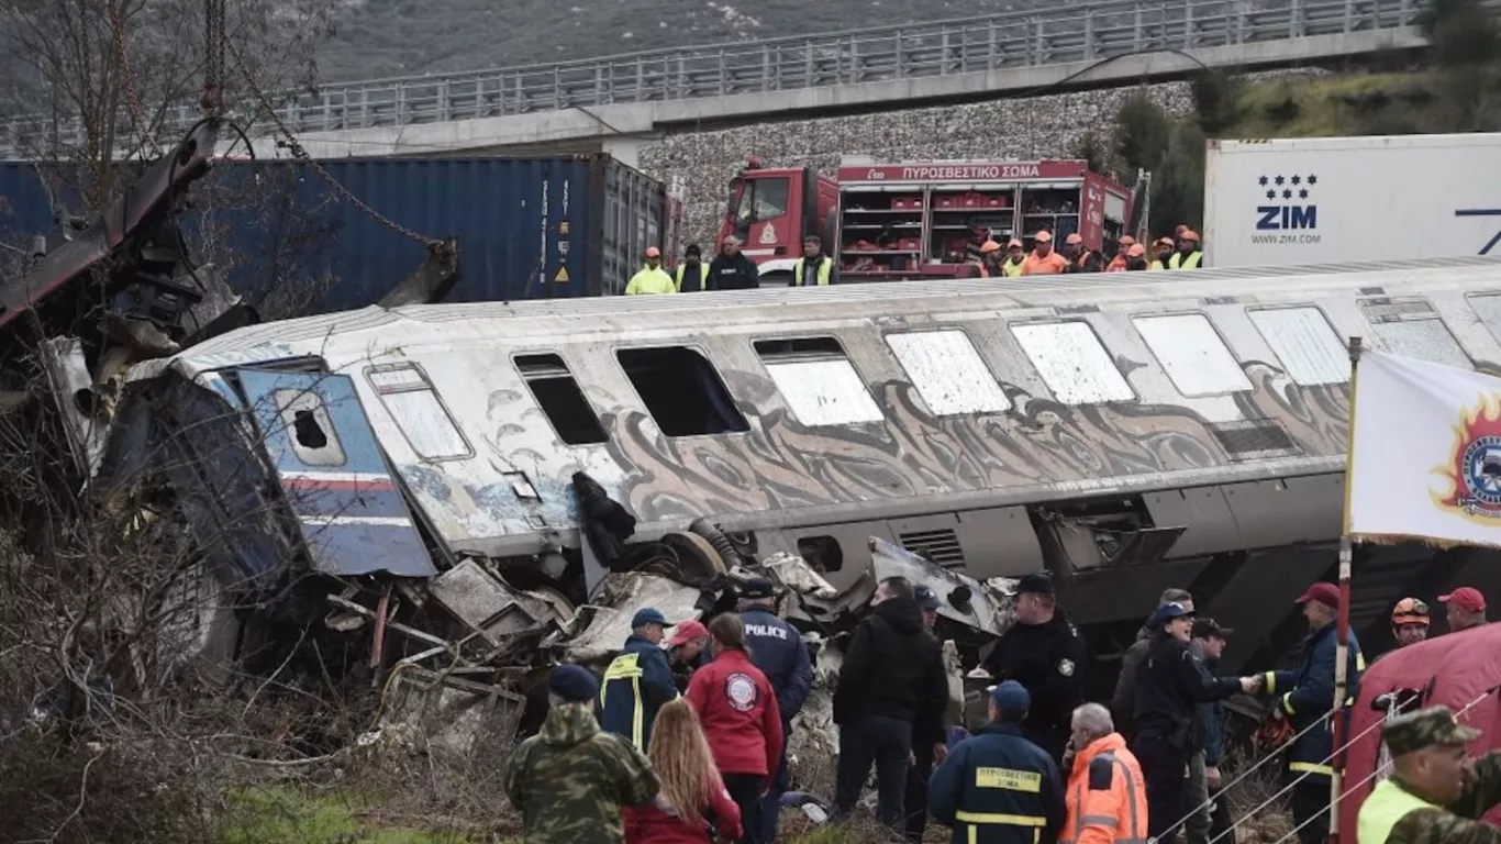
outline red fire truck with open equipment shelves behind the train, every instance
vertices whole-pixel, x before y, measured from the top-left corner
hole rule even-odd
[[[791,279],[802,239],[818,234],[845,281],[968,276],[986,239],[1078,231],[1090,249],[1127,231],[1132,191],[1084,161],[847,165],[766,170],[752,159],[731,183],[719,239],[734,234],[763,281]]]

